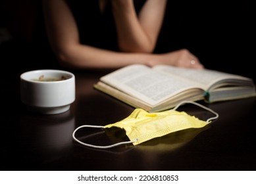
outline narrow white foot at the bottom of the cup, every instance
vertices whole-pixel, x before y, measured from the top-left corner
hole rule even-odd
[[[70,104],[57,107],[27,106],[27,108],[30,112],[35,112],[39,114],[61,114],[69,110]]]

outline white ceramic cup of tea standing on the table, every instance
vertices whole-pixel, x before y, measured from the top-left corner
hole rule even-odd
[[[59,114],[75,100],[75,76],[63,70],[32,70],[20,75],[20,99],[28,110]]]

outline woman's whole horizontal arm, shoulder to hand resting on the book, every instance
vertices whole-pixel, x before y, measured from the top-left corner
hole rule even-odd
[[[118,53],[82,45],[76,22],[65,0],[42,0],[47,35],[53,52],[62,66],[70,68],[120,68],[128,64],[170,64],[201,68],[190,65],[195,58],[188,51],[176,51],[163,55],[147,53]],[[162,0],[161,0],[162,1]],[[197,67],[199,66],[199,67]]]

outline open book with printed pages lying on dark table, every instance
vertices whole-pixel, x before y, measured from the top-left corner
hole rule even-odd
[[[159,112],[181,101],[207,103],[256,97],[250,78],[208,69],[132,64],[100,78],[95,89],[148,112]]]

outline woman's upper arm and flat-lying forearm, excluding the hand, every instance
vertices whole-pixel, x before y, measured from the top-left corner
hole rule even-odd
[[[43,0],[49,42],[61,65],[75,68],[118,68],[140,62],[145,56],[122,54],[80,44],[76,21],[64,0]]]

